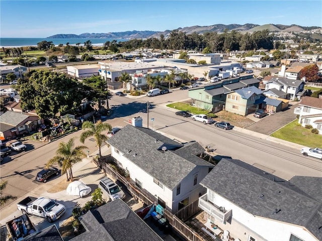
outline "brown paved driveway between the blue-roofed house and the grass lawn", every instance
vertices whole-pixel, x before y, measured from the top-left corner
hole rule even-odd
[[[247,130],[252,130],[261,134],[270,135],[281,127],[296,119],[294,108],[298,104],[289,105],[286,110],[266,116],[252,125],[245,127]]]

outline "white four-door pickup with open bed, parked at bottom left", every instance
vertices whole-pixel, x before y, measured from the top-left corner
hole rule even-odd
[[[64,205],[48,198],[27,197],[17,204],[23,214],[33,214],[52,222],[60,218],[66,211]]]

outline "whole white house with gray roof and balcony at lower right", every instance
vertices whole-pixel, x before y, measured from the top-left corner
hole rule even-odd
[[[222,158],[201,181],[206,226],[238,240],[322,240],[322,178],[283,180],[237,159]]]

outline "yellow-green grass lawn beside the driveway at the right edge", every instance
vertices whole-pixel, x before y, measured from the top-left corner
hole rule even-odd
[[[298,119],[274,132],[271,136],[308,147],[322,148],[322,135],[313,134],[311,129],[298,126]]]

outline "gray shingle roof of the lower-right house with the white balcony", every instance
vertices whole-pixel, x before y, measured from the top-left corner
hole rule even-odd
[[[310,184],[313,186],[305,190]],[[314,194],[314,188],[322,187],[322,178],[294,178],[288,182],[241,160],[223,158],[201,185],[255,216],[304,226],[322,239],[318,230],[322,226],[322,202],[315,199],[321,191]]]

